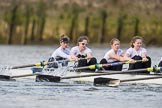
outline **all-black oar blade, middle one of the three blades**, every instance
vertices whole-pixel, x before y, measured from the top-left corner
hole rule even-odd
[[[61,77],[52,75],[37,75],[36,82],[60,82]]]

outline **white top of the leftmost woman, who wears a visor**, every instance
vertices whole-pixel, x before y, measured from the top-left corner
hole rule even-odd
[[[57,48],[53,53],[51,57],[62,57],[62,58],[67,58],[70,59],[70,49],[69,48],[65,48],[62,49],[61,47]]]

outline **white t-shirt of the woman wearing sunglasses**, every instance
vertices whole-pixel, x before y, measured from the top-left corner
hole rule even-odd
[[[79,54],[86,56],[87,53],[92,53],[91,49],[89,49],[88,47],[86,47],[85,50],[80,52],[78,46],[75,46],[75,47],[71,48],[70,52],[74,53],[75,56],[78,56]]]

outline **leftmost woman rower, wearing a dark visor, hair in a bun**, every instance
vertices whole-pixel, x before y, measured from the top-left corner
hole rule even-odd
[[[62,66],[67,66],[68,60],[70,59],[70,55],[69,55],[70,49],[68,48],[69,41],[70,41],[69,37],[62,34],[60,36],[60,47],[57,48],[52,53],[48,62],[61,61],[62,60]],[[51,68],[51,67],[57,68],[58,64],[57,63],[49,64],[48,68]]]

